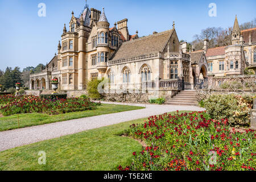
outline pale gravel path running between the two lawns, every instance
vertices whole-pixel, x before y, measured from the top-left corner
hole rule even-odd
[[[114,102],[102,102],[105,104],[118,104]],[[119,104],[123,105],[123,104]],[[146,109],[125,111],[122,113],[97,115],[89,118],[73,119],[47,125],[32,126],[23,129],[0,132],[0,151],[10,148],[24,146],[65,135],[80,133],[82,131],[96,129],[103,126],[114,125],[134,119],[146,118],[176,110],[204,110],[195,106],[173,106],[173,105],[143,105],[126,104],[133,106],[146,106]]]

